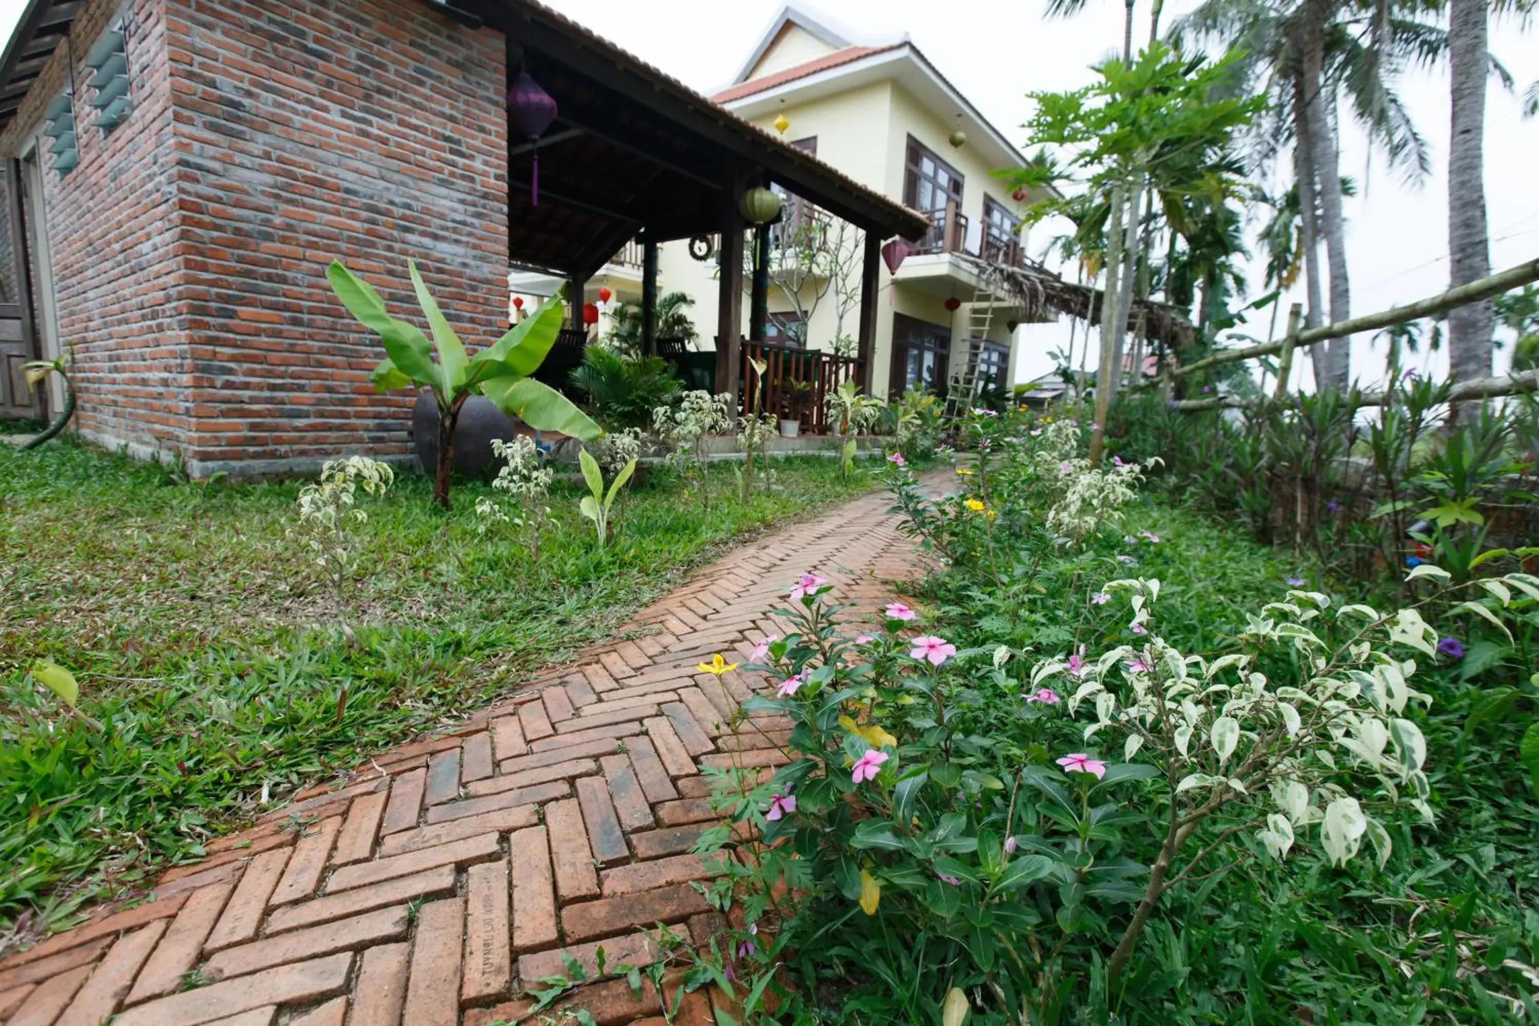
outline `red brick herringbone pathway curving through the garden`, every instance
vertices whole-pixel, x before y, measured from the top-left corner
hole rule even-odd
[[[0,1021],[486,1026],[525,1018],[514,995],[563,974],[563,952],[593,980],[599,944],[611,969],[660,960],[645,932],[659,921],[705,943],[719,920],[688,854],[713,820],[700,768],[783,763],[785,723],[731,734],[763,681],[696,665],[783,634],[773,611],[803,569],[840,601],[885,601],[916,560],[888,505],[862,498],[734,552],[642,612],[631,626],[648,634],[302,792],[163,874],[152,901],[0,961]],[[677,1021],[714,1021],[711,1001],[683,997]],[[637,997],[622,978],[548,1012],[562,1008],[663,1021],[651,984]]]

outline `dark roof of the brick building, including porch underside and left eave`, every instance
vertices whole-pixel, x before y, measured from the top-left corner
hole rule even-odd
[[[419,0],[469,29],[508,40],[557,103],[534,145],[540,205],[531,203],[532,148],[508,142],[508,257],[586,277],[629,238],[717,232],[746,185],[774,183],[877,238],[919,238],[917,212],[714,105],[536,0]],[[29,0],[0,58],[0,129],[15,117],[83,0]],[[474,126],[459,126],[474,129]]]

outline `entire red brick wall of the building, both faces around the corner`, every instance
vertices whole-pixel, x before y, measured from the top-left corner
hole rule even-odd
[[[77,82],[120,11],[91,0],[77,18]],[[129,118],[102,138],[82,86],[80,166],[45,174],[80,431],[177,451],[194,474],[406,454],[412,397],[374,394],[383,351],[325,269],[343,260],[420,321],[416,257],[466,341],[506,329],[502,35],[420,0],[132,0],[126,12]],[[37,131],[66,60],[60,48],[0,152]]]

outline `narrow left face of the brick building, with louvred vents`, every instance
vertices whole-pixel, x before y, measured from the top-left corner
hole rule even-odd
[[[103,137],[91,126],[85,57],[119,15],[128,23],[134,108]],[[165,31],[165,0],[86,5],[72,34],[80,165],[60,177],[49,142],[38,145],[58,329],[80,397],[74,423],[88,438],[139,454],[182,449],[191,434]],[[60,46],[0,135],[0,154],[22,151],[69,72],[69,49]]]

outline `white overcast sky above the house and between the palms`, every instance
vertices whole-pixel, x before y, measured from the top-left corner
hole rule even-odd
[[[6,37],[22,6],[23,0],[0,0],[0,31]],[[560,0],[557,6],[562,14],[708,92],[737,72],[780,9],[780,0]],[[1120,48],[1122,38],[1122,5],[1114,0],[1090,0],[1079,17],[1067,22],[1045,18],[1045,0],[805,0],[797,6],[854,42],[908,34],[940,72],[1023,149],[1030,143],[1019,128],[1030,114],[1025,94],[1088,83],[1088,66]],[[1194,0],[1168,0],[1167,25],[1193,6]],[[1145,35],[1148,9],[1148,0],[1137,0],[1137,31]],[[1539,80],[1539,31],[1525,34],[1514,22],[1496,22],[1491,49],[1517,80],[1517,92],[1507,92],[1493,82],[1487,102],[1485,195],[1491,268],[1501,269],[1539,254],[1539,189],[1534,188],[1539,118],[1522,120],[1517,102],[1517,94]],[[1354,314],[1433,295],[1448,285],[1445,69],[1407,75],[1400,94],[1433,154],[1433,174],[1420,185],[1399,182],[1382,158],[1370,163],[1360,135],[1344,126],[1342,172],[1359,183],[1359,195],[1347,200]],[[1033,246],[1045,243],[1051,234],[1047,226],[1039,228]],[[1253,294],[1259,294],[1259,263],[1248,277],[1254,281]],[[1244,329],[1265,337],[1265,312]],[[1063,337],[1067,329],[1060,325],[1033,328],[1027,335],[1022,374],[1034,377],[1050,369],[1047,352],[1062,345]],[[1299,363],[1307,366],[1308,360]],[[1505,365],[1507,355],[1497,354],[1497,368]],[[1445,354],[1427,366],[1445,371]],[[1382,346],[1370,354],[1368,340],[1359,338],[1353,368],[1370,377],[1382,368]]]

